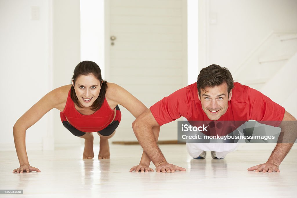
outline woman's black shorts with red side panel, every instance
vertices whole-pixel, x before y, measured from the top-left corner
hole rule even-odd
[[[113,132],[116,130],[116,128],[119,126],[119,121],[121,120],[121,111],[118,105],[116,105],[116,118],[114,121],[112,121],[107,127],[105,127],[104,129],[102,129],[101,131],[98,131],[98,133],[100,135],[103,136],[110,136],[111,134],[113,134]],[[118,119],[120,118],[120,119]],[[75,136],[82,136],[84,134],[86,134],[86,132],[82,132],[78,129],[76,129],[74,126],[72,126],[68,121],[62,121],[63,125],[65,126],[66,129],[68,129],[73,135]]]

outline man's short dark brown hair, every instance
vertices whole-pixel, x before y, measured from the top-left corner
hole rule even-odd
[[[210,65],[201,69],[197,78],[197,89],[200,96],[200,89],[204,91],[206,87],[215,87],[227,83],[228,96],[233,89],[233,77],[226,67]]]

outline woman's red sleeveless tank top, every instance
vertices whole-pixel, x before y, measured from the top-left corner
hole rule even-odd
[[[75,109],[69,90],[66,106],[60,115],[61,120],[68,121],[82,132],[96,132],[106,128],[112,122],[114,110],[110,108],[104,98],[104,102],[99,110],[91,115],[82,115]]]

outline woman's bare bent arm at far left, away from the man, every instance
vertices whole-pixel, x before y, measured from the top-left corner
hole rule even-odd
[[[20,167],[13,170],[13,172],[40,172],[39,169],[31,167],[29,164],[26,152],[26,130],[29,129],[33,124],[35,124],[38,120],[40,120],[40,118],[42,118],[42,116],[45,115],[45,113],[47,113],[51,109],[57,108],[63,111],[67,101],[67,88],[69,91],[70,86],[66,85],[49,92],[44,97],[42,97],[42,99],[40,99],[36,104],[34,104],[26,113],[24,113],[24,115],[22,115],[18,119],[18,121],[16,121],[15,125],[13,126],[13,138],[15,142],[15,150],[17,152],[18,160],[20,162]]]

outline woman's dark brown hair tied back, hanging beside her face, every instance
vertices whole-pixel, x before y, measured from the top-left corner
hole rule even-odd
[[[91,110],[93,111],[97,111],[98,109],[100,109],[100,107],[102,106],[104,99],[105,99],[105,93],[107,90],[107,81],[102,80],[102,75],[101,75],[101,69],[100,67],[92,62],[92,61],[83,61],[80,62],[74,69],[73,71],[73,76],[72,76],[72,80],[73,80],[73,85],[75,86],[75,81],[76,79],[81,76],[81,75],[94,75],[99,81],[100,81],[100,85],[101,85],[101,89],[100,89],[100,93],[98,98],[93,102],[93,104],[91,105]],[[81,107],[78,104],[78,98],[75,94],[75,89],[73,86],[71,86],[71,90],[70,90],[70,96],[72,101],[79,107]]]

